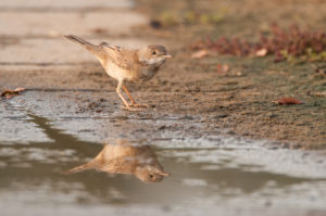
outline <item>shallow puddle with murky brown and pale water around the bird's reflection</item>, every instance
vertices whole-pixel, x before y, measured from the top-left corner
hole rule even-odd
[[[314,152],[268,149],[263,141],[233,138],[177,138],[167,132],[171,139],[162,135],[156,140],[130,140],[149,144],[158,163],[171,174],[161,182],[143,183],[120,171],[84,170],[65,176],[61,173],[89,162],[103,144],[77,139],[28,112],[7,115],[7,119],[30,124],[46,139],[25,144],[0,142],[4,215],[22,211],[25,215],[326,213],[326,164]],[[135,119],[124,120],[131,124]]]

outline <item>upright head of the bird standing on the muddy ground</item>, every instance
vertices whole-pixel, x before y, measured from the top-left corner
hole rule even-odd
[[[160,66],[166,59],[172,58],[172,55],[167,53],[165,47],[160,45],[150,45],[138,50],[138,58],[141,63]]]

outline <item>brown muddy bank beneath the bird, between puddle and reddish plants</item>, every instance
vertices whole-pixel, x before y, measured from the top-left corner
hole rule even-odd
[[[218,132],[280,141],[283,147],[324,149],[326,98],[311,96],[310,92],[323,90],[325,79],[313,77],[310,66],[286,65],[286,72],[275,68],[279,64],[261,66],[269,61],[224,60],[228,64],[239,65],[239,71],[235,69],[235,73],[241,72],[241,75],[218,76],[214,68],[205,72],[202,68],[211,67],[214,65],[212,62],[221,62],[221,58],[216,60],[212,56],[193,62],[188,56],[176,53],[175,59],[153,80],[142,86],[129,85],[137,100],[149,103],[151,107],[136,114],[123,112],[123,115],[196,115],[206,124],[204,130],[198,131],[199,136]],[[121,101],[114,92],[116,82],[97,65],[88,65],[83,69],[17,74],[22,74],[20,79],[12,77],[12,72],[3,72],[9,80],[15,79],[11,81],[13,87],[27,87],[26,94],[42,92],[42,89],[67,94],[77,105],[80,104],[78,109],[82,113],[110,115],[110,105],[115,104],[117,110],[121,109]],[[62,75],[65,79],[59,78]],[[89,93],[92,98],[88,97]],[[305,103],[277,105],[272,102],[281,97],[293,96],[292,93]],[[75,94],[78,97],[74,97]],[[98,99],[99,96],[102,101]],[[24,98],[24,94],[21,97]],[[26,101],[28,100],[35,99],[27,97]],[[90,105],[82,105],[85,100]],[[181,128],[191,122],[185,124]]]

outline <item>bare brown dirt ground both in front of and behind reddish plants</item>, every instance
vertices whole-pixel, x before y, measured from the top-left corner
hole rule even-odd
[[[315,93],[326,91],[326,78],[316,74],[314,68],[314,65],[325,66],[325,63],[275,64],[268,56],[211,55],[193,60],[190,58],[192,51],[188,49],[203,36],[254,38],[258,30],[265,30],[272,22],[283,26],[299,23],[325,28],[325,1],[138,2],[136,10],[152,18],[160,17],[164,11],[210,12],[220,8],[226,11],[216,24],[175,25],[158,29],[142,25],[134,29],[134,37],[161,41],[174,55],[152,80],[129,85],[139,102],[151,105],[145,112],[190,117],[200,115],[206,122],[202,132],[218,130],[224,135],[275,140],[283,147],[326,149],[326,98]],[[217,64],[227,64],[230,71],[221,75],[216,71]],[[60,71],[48,72],[47,66],[24,72],[3,69],[2,80],[10,86],[2,86],[113,91],[116,85],[99,64],[85,64],[74,69],[63,66]],[[304,104],[277,105],[272,102],[283,97],[296,97]],[[120,102],[117,97],[116,102]]]

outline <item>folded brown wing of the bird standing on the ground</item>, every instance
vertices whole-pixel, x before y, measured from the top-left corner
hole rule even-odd
[[[118,46],[109,46],[108,43],[102,43],[102,47],[112,63],[123,69],[131,69],[135,53],[133,50],[125,50]]]

